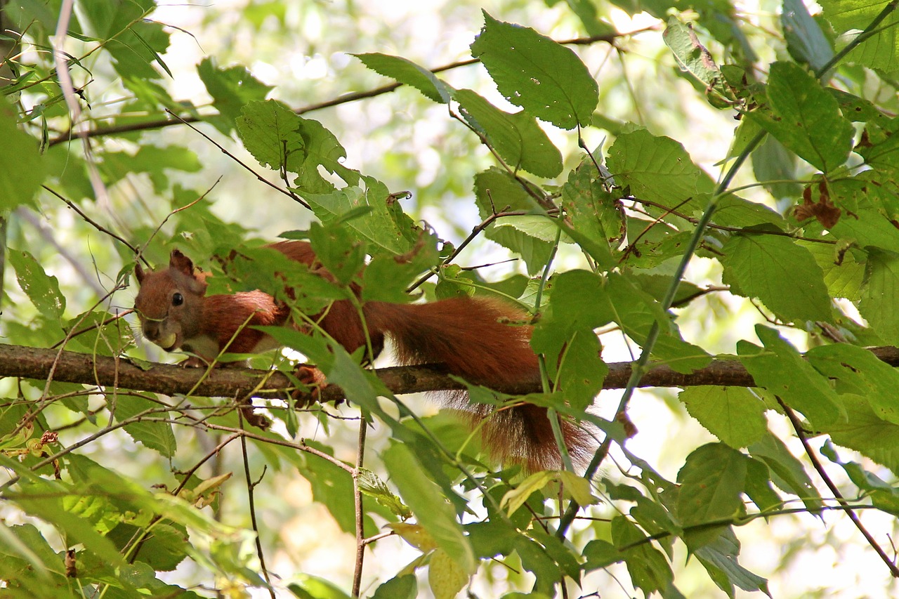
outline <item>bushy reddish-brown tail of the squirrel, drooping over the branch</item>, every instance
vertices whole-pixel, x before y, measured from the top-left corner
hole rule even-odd
[[[369,328],[390,335],[403,364],[443,363],[447,370],[485,387],[539,380],[537,355],[530,349],[528,315],[494,299],[451,298],[427,304],[368,305]],[[560,469],[556,438],[545,407],[519,404],[495,409],[471,404],[467,394],[441,394],[443,403],[463,411],[482,427],[485,447],[504,462],[519,461],[530,471]],[[575,463],[589,459],[592,435],[563,421],[565,445]]]

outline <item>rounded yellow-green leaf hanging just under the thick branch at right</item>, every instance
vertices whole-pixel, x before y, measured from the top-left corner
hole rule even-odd
[[[768,430],[764,402],[743,387],[690,387],[678,396],[699,424],[734,449],[747,447]]]

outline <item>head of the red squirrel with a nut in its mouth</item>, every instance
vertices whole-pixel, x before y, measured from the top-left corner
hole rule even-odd
[[[134,269],[140,290],[134,299],[140,328],[151,342],[172,352],[200,333],[206,275],[195,273],[191,259],[172,250],[168,268]]]

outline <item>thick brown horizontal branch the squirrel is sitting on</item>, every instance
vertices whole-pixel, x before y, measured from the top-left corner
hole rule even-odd
[[[870,350],[878,359],[899,366],[899,348],[876,347]],[[201,397],[238,398],[253,392],[254,397],[283,398],[284,389],[292,384],[280,372],[259,371],[247,368],[218,368],[210,371],[184,369],[175,364],[151,363],[144,368],[128,358],[111,358],[89,353],[65,352],[22,345],[0,344],[0,377],[21,377],[47,380],[56,362],[53,380],[98,385],[118,384],[120,388],[184,395],[192,393]],[[423,366],[398,366],[376,371],[378,378],[396,394],[464,389],[449,378],[439,364]],[[628,384],[630,362],[609,364],[609,374],[603,389],[623,389]],[[261,389],[256,389],[268,377]],[[719,358],[706,368],[683,374],[667,366],[654,366],[639,382],[639,387],[696,387],[712,385],[721,387],[752,387],[754,381],[743,364],[736,359]],[[521,395],[539,392],[539,383],[522,381],[505,389],[505,393]],[[343,390],[336,385],[322,389],[320,400],[343,398]]]

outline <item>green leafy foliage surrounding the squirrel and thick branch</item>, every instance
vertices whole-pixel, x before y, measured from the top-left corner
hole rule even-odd
[[[800,0],[762,3],[778,15],[764,23],[723,1],[539,7],[590,36],[564,42],[513,18],[537,9],[467,6],[467,28],[479,31],[458,63],[435,68],[402,49],[366,48],[364,36],[342,39],[352,64],[381,78],[359,75],[369,91],[323,84],[303,95],[244,65],[221,66],[223,51],[195,67],[202,99],[173,93],[186,67],[170,50],[189,34],[156,21],[153,0],[75,4],[0,3],[7,344],[143,367],[158,354],[115,313],[138,260],[164,264],[178,247],[218,274],[210,291],[280,294],[283,264],[254,248],[276,234],[307,238],[334,282],[291,279],[303,313],[352,297],[355,282],[361,301],[409,301],[414,291],[519,303],[534,317],[542,385],[520,397],[469,385],[470,397],[550,407],[597,443],[586,472],[524,476],[492,464],[457,418],[387,389],[361,355],[321,333],[279,335],[349,406],[298,412],[258,393],[254,405],[274,422],[267,430],[246,422],[249,397],[64,382],[54,366],[42,380],[4,380],[0,595],[248,596],[256,587],[386,598],[430,587],[437,597],[468,588],[539,598],[611,596],[617,584],[664,597],[685,596],[684,584],[769,594],[766,577],[741,563],[752,545],[738,532],[796,512],[850,518],[878,584],[899,577],[884,549],[899,514],[899,372],[868,349],[899,345],[897,3],[819,0],[814,15]],[[287,29],[289,4],[237,14],[261,39]],[[345,8],[362,31],[360,9]],[[651,24],[614,24],[638,20]],[[654,116],[625,121],[610,107],[628,95],[610,88],[628,88],[627,69],[613,79],[599,48],[627,65],[647,38],[665,47],[652,58],[658,89],[647,92],[659,103]],[[314,53],[309,62],[322,62]],[[383,77],[394,85],[378,88]],[[377,121],[364,107],[397,87],[408,108],[388,109],[386,133],[369,131],[389,138],[413,121],[446,135],[430,148],[440,174],[423,183],[427,154],[381,139],[361,158],[352,123],[337,122],[351,105],[363,106],[360,127]],[[688,108],[716,124],[708,148],[679,140],[704,126],[683,125]],[[225,163],[210,157],[218,148]],[[213,185],[211,164],[241,183]],[[463,254],[469,244],[489,268]],[[222,272],[211,257],[237,246],[254,260]],[[503,270],[498,246],[520,265]],[[601,390],[617,345],[633,364],[611,409]],[[0,374],[13,362],[0,361]],[[293,362],[270,353],[253,364],[291,372]],[[729,382],[734,365],[751,387]],[[682,389],[672,407],[708,432],[680,440],[691,444],[674,476],[632,451],[645,424],[628,407],[659,367]],[[714,383],[674,382],[699,369]],[[231,448],[235,461],[220,457]],[[240,471],[244,490],[232,476]],[[352,582],[265,559],[289,550],[289,527],[256,513],[270,514],[270,496],[296,478],[309,494],[298,509],[310,514],[314,503],[312,518],[326,514],[332,531],[354,537]],[[885,524],[869,531],[863,511]],[[396,536],[415,550],[405,567],[388,559],[406,555],[387,544]],[[376,574],[363,577],[363,555]],[[684,574],[684,556],[706,582]]]

